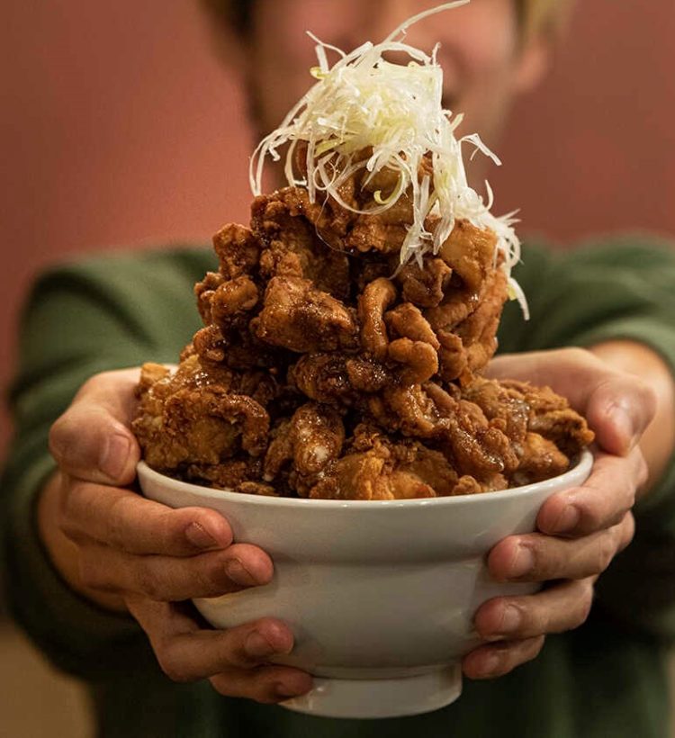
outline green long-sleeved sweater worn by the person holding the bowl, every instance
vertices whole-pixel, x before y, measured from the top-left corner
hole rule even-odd
[[[11,390],[16,434],[0,487],[4,580],[14,615],[58,668],[85,680],[106,738],[596,738],[668,735],[664,651],[675,635],[675,464],[636,510],[635,542],[599,580],[588,622],[546,639],[506,677],[464,681],[442,710],[391,720],[332,720],[178,685],[133,620],[67,589],[40,547],[36,492],[53,470],[47,437],[77,388],[105,369],[175,362],[198,327],[192,285],[210,250],[97,257],[41,277],[23,315]],[[516,271],[532,320],[506,307],[500,351],[632,338],[675,367],[675,253],[625,238],[554,254],[529,246]],[[674,369],[675,374],[675,369]]]

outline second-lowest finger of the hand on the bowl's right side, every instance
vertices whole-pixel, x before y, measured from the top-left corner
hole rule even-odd
[[[526,640],[572,630],[589,617],[594,579],[564,581],[527,597],[490,599],[476,612],[474,626],[487,641]]]

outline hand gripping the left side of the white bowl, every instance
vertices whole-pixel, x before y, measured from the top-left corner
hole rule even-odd
[[[58,473],[38,513],[50,557],[74,590],[139,622],[172,680],[208,679],[220,694],[259,702],[304,694],[309,674],[268,663],[293,648],[283,622],[213,630],[186,601],[266,584],[273,563],[233,544],[214,510],[171,509],[128,489],[140,455],[130,431],[138,380],[138,369],[95,375],[51,428]]]

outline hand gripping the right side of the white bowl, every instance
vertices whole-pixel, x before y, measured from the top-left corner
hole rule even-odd
[[[633,538],[631,509],[647,479],[638,444],[656,409],[644,382],[582,349],[500,357],[489,374],[552,387],[589,421],[596,446],[588,481],[546,500],[536,533],[509,536],[492,548],[488,568],[495,580],[550,584],[478,609],[474,626],[491,643],[464,657],[464,673],[473,679],[508,673],[536,657],[546,634],[586,620],[599,574]]]

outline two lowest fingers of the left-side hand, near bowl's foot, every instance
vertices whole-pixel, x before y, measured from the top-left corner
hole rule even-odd
[[[130,599],[128,606],[172,680],[211,678],[220,694],[259,702],[280,702],[311,689],[309,674],[265,665],[293,648],[293,634],[279,620],[262,618],[227,631],[201,630],[180,605]]]

